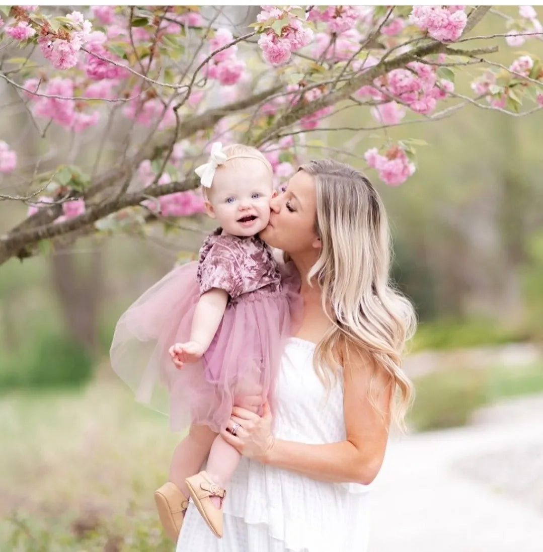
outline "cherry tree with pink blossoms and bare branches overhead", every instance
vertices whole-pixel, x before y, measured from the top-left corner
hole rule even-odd
[[[23,151],[0,141],[0,174],[10,186],[0,200],[28,206],[0,235],[0,264],[44,243],[200,212],[194,168],[217,140],[261,148],[279,183],[310,156],[336,155],[327,142],[334,132],[375,133],[360,157],[395,186],[416,171],[409,125],[468,105],[511,116],[543,108],[541,60],[512,49],[543,40],[531,6],[516,17],[491,6],[263,6],[244,28],[224,7],[52,9],[0,7],[4,54],[24,54],[4,55],[0,77],[41,140],[61,130],[71,139],[97,136],[97,146],[90,160],[70,155],[30,174],[17,166]],[[487,17],[503,31],[478,35]],[[510,49],[510,65],[492,60],[498,49]],[[469,91],[456,89],[455,76],[470,66],[483,71]],[[334,126],[347,110],[349,120],[368,113],[375,122]],[[392,140],[392,126],[403,126],[404,138]],[[342,151],[356,156],[357,140]]]

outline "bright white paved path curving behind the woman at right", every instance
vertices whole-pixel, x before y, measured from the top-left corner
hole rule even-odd
[[[478,462],[543,450],[542,419],[539,396],[485,411],[470,427],[392,439],[372,491],[370,552],[542,552],[543,509],[512,492],[523,463],[509,463],[497,485]],[[479,476],[466,471],[474,463]],[[543,457],[528,464],[543,497]]]

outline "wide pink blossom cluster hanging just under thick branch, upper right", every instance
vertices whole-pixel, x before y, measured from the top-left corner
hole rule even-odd
[[[392,95],[414,112],[427,115],[436,108],[438,100],[445,99],[448,93],[454,91],[452,82],[437,78],[434,66],[413,61],[407,67],[393,69],[387,75],[375,79],[374,86],[360,88],[356,95],[369,96],[382,102],[390,102]],[[387,110],[388,114],[393,114],[392,106]]]

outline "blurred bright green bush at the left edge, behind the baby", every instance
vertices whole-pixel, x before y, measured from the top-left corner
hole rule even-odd
[[[66,335],[41,332],[27,346],[0,358],[0,391],[15,388],[62,388],[86,383],[94,359]]]

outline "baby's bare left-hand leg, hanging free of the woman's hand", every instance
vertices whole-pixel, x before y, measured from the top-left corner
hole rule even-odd
[[[207,426],[190,426],[189,434],[180,442],[173,453],[169,480],[189,496],[185,479],[200,471],[217,434]]]

